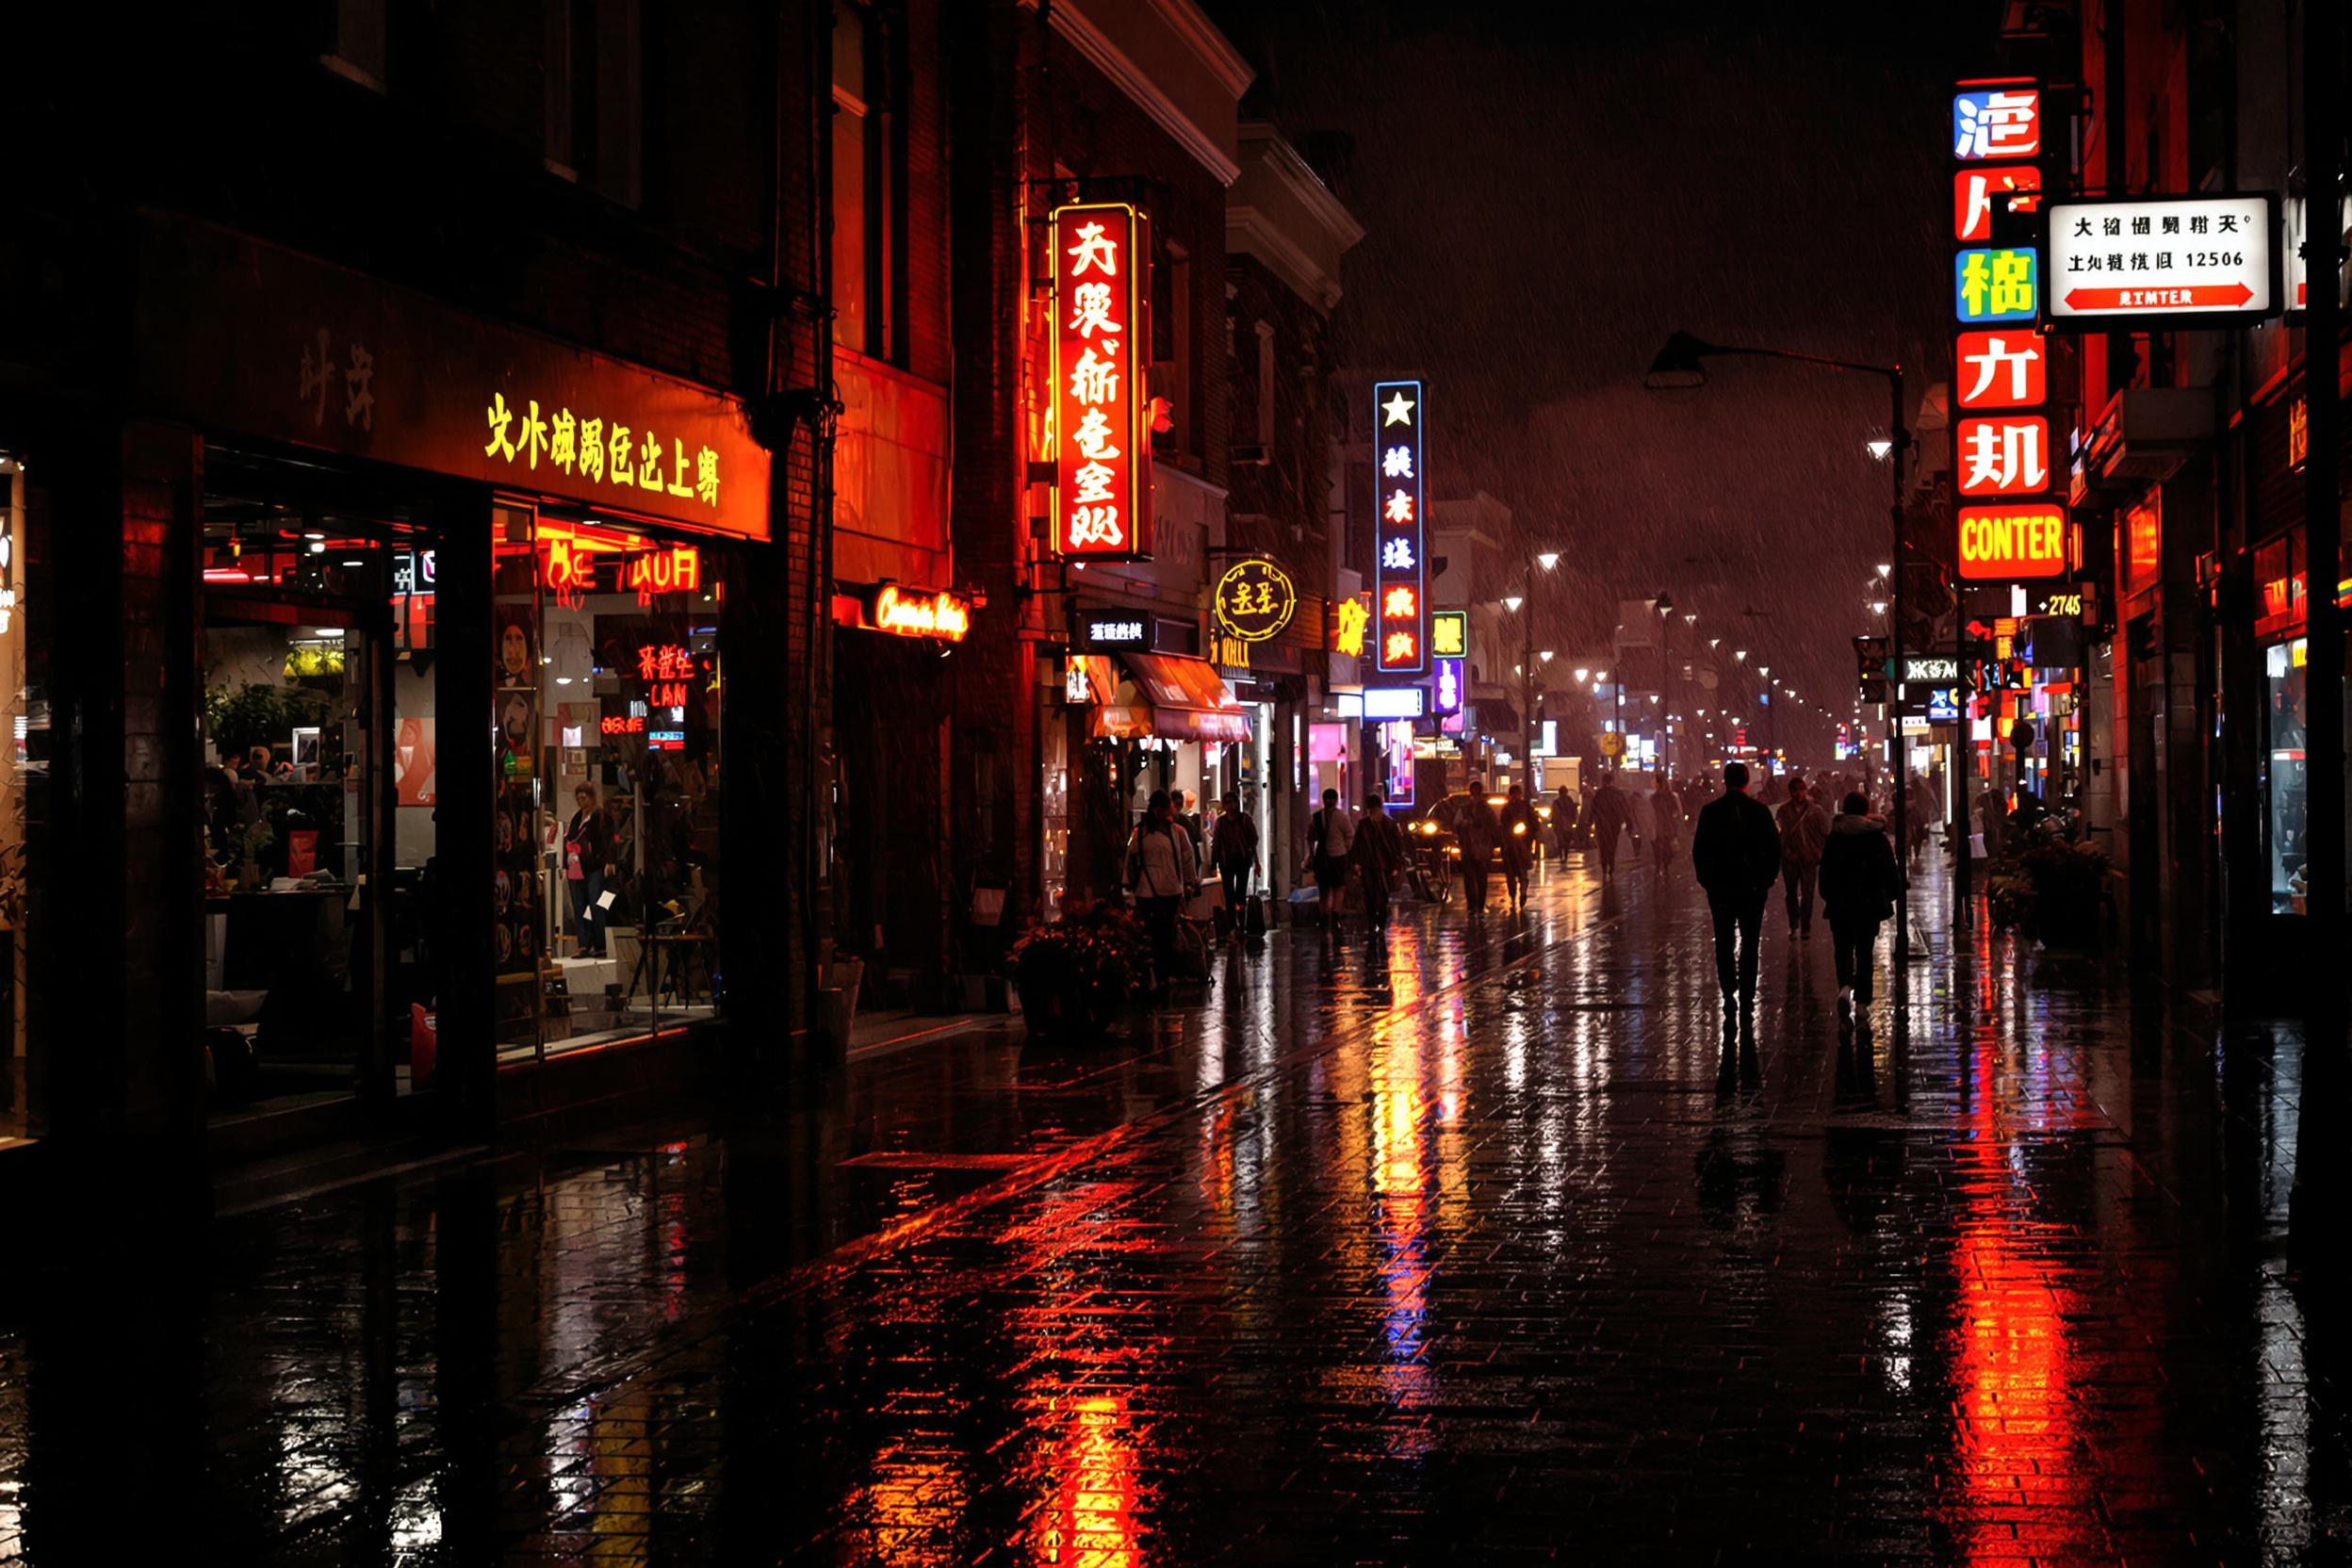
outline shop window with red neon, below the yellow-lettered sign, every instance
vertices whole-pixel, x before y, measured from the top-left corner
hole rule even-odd
[[[501,508],[492,583],[501,1058],[715,1016],[717,559]]]

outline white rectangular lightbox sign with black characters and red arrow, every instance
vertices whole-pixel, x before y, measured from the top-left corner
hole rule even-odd
[[[2267,195],[2051,202],[2051,324],[2166,331],[2279,313],[2279,214]]]

